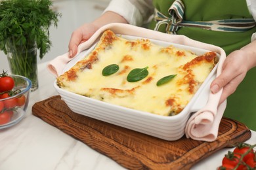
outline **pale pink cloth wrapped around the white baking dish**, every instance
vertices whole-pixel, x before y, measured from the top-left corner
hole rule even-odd
[[[145,39],[156,39],[160,41],[173,42],[176,44],[183,44],[186,46],[203,48],[205,50],[217,52],[220,55],[217,68],[217,76],[221,74],[223,62],[226,58],[226,54],[222,48],[219,48],[218,46],[213,46],[211,44],[194,41],[184,35],[168,35],[166,33],[161,33],[158,31],[153,31],[150,29],[137,27],[129,24],[114,23],[100,27],[100,29],[98,29],[98,31],[96,31],[95,34],[88,41],[79,44],[77,48],[77,54],[79,54],[83,50],[90,48],[106,29],[111,29],[116,34],[132,35],[137,37],[143,37]],[[68,53],[66,53],[62,56],[54,58],[52,61],[49,62],[47,67],[49,71],[57,77],[59,75],[62,75],[64,66],[71,59],[72,58],[68,57]],[[196,112],[189,118],[185,129],[186,137],[191,137],[192,139],[202,141],[214,141],[217,138],[219,124],[226,106],[226,103],[222,103],[218,107],[221,93],[222,90],[219,93],[210,94],[207,105],[205,105],[205,107],[201,109],[200,112]]]

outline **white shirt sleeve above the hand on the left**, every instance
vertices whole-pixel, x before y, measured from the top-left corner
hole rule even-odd
[[[104,10],[116,12],[131,25],[141,26],[153,14],[152,0],[112,0]],[[104,13],[103,12],[103,13]]]

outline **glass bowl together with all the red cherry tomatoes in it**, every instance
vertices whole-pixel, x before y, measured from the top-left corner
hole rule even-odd
[[[20,75],[0,74],[0,129],[11,127],[24,118],[32,82]]]

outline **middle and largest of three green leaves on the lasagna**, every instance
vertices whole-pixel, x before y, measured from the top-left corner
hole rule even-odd
[[[143,69],[133,69],[127,76],[128,82],[137,82],[148,76],[148,67]]]

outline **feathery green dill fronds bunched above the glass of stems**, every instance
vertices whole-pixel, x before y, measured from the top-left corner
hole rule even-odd
[[[51,47],[49,27],[56,27],[61,16],[52,4],[51,0],[0,1],[0,50],[7,54],[7,42],[23,51],[36,44],[42,59]]]

